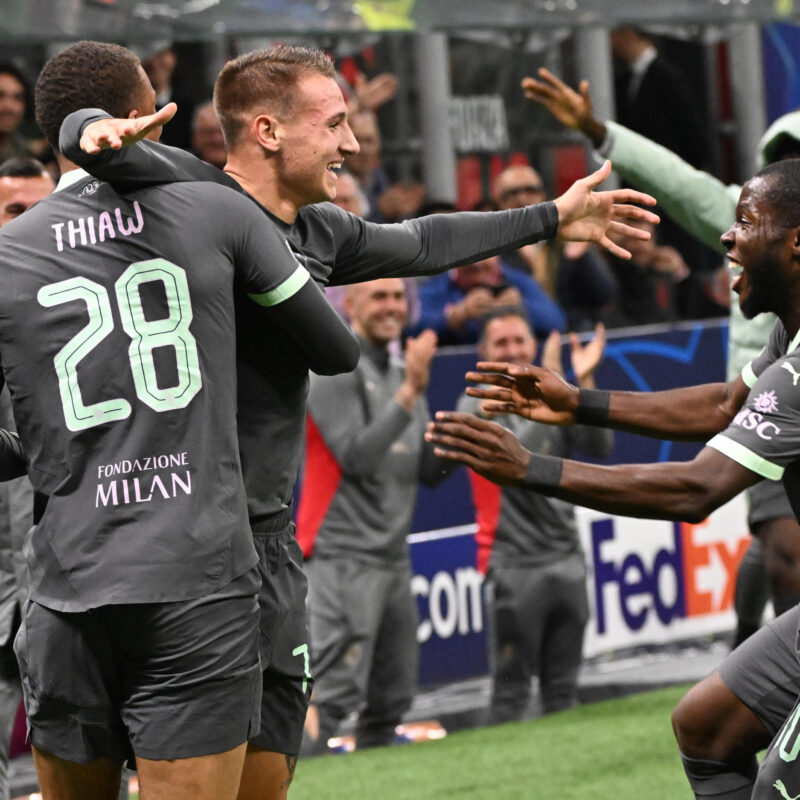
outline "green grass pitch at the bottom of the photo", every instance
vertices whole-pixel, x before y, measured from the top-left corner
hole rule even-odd
[[[690,800],[670,727],[688,686],[441,741],[303,760],[291,800]]]

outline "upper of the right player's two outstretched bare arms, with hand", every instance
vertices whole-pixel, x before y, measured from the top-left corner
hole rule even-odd
[[[663,392],[579,389],[542,367],[483,361],[467,380],[467,394],[496,414],[518,414],[554,425],[576,422],[656,438],[706,441],[723,430],[747,398],[739,377]]]

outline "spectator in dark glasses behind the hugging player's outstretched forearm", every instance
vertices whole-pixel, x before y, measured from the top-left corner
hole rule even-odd
[[[522,208],[547,199],[539,173],[526,164],[506,167],[495,179],[499,209]],[[564,310],[571,330],[587,330],[614,299],[616,281],[603,257],[585,242],[538,242],[504,253],[503,263],[530,272]]]

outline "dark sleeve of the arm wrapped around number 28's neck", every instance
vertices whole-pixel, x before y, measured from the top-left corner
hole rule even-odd
[[[120,150],[85,153],[80,147],[83,131],[87,125],[100,119],[110,119],[110,115],[97,108],[84,108],[68,115],[61,124],[59,148],[74,164],[110,183],[118,191],[176,181],[211,181],[242,191],[239,184],[224,172],[191,153],[148,140]]]

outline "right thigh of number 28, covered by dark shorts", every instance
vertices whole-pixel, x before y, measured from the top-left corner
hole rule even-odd
[[[261,701],[257,575],[215,593],[119,616],[122,718],[138,758],[232,751],[257,731]]]

